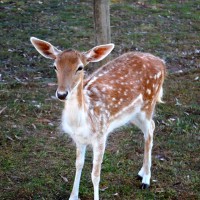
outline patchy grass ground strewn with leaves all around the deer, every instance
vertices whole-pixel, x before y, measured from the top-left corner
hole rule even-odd
[[[142,165],[143,136],[126,126],[108,140],[100,196],[199,199],[199,1],[141,2],[111,1],[111,26],[113,57],[138,49],[167,62],[166,103],[157,106],[155,115],[152,183],[148,191],[139,189],[135,175]],[[35,52],[29,37],[61,49],[88,50],[94,45],[92,4],[3,0],[1,5],[0,199],[67,199],[75,146],[60,134],[63,105],[52,98],[52,64]],[[83,200],[93,198],[91,167],[89,149],[80,187]]]

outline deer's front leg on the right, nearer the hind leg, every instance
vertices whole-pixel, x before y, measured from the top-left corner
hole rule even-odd
[[[94,200],[99,200],[99,182],[101,174],[101,163],[105,152],[105,140],[96,142],[93,145],[93,169],[92,183],[94,187]]]

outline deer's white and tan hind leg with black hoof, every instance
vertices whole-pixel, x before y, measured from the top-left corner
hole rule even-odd
[[[142,179],[141,188],[146,189],[150,185],[151,178],[151,152],[153,147],[155,123],[152,118],[148,119],[145,113],[138,115],[132,123],[140,128],[144,133],[144,159],[138,177]]]

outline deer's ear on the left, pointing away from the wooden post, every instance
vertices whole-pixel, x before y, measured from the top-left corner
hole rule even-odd
[[[36,50],[45,58],[56,59],[56,56],[61,52],[52,44],[44,40],[40,40],[35,37],[31,37],[30,40]]]

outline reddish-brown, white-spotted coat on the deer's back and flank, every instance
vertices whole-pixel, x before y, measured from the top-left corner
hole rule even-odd
[[[151,54],[130,52],[94,72],[84,86],[92,109],[116,115],[139,95],[151,102],[160,90],[165,75],[164,62]]]

